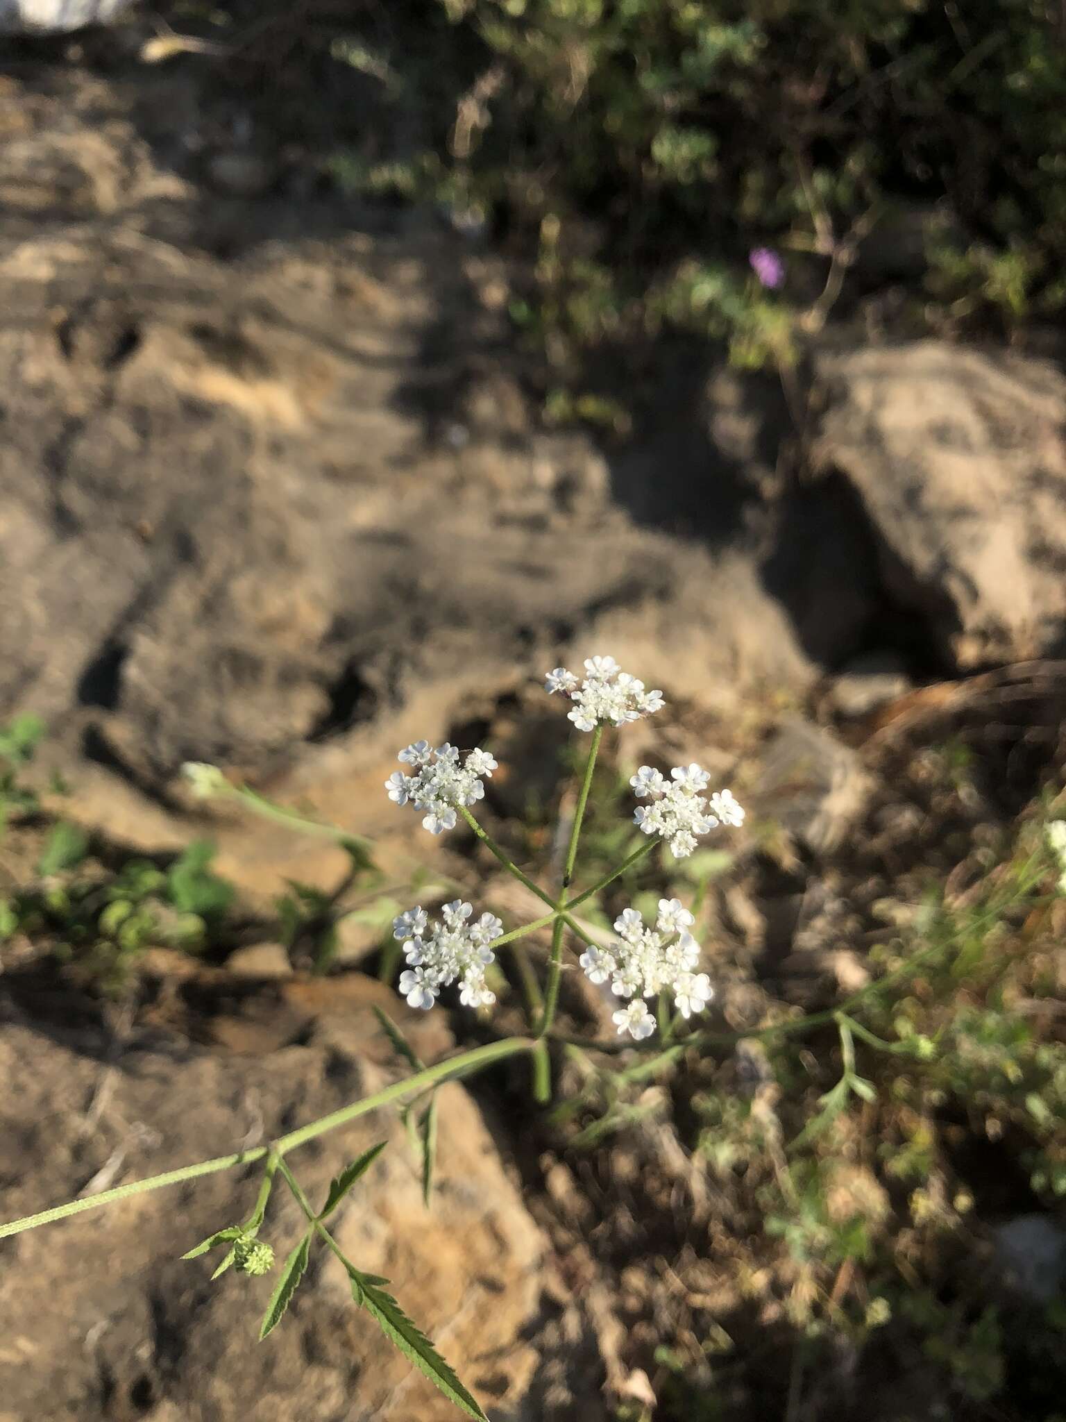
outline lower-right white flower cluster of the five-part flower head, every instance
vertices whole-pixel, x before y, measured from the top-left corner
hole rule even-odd
[[[635,909],[625,909],[614,920],[620,941],[581,954],[581,967],[591,983],[610,980],[613,993],[632,998],[611,1017],[618,1035],[628,1032],[641,1041],[655,1031],[645,997],[671,993],[684,1018],[702,1012],[714,997],[706,973],[694,973],[699,963],[699,944],[688,931],[694,921],[679,899],[659,899],[654,929],[644,927]]]

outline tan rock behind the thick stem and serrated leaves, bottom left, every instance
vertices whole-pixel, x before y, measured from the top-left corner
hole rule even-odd
[[[431,1055],[425,1020],[372,983],[361,1008],[348,1003],[345,1012],[320,1015],[300,1045],[263,1057],[159,1039],[105,1066],[84,1031],[75,1039],[65,1025],[51,1035],[7,1024],[0,1116],[18,1150],[4,1167],[0,1217],[260,1143],[397,1079],[371,1000],[385,1003],[415,1049]],[[333,1217],[337,1239],[360,1267],[391,1278],[475,1395],[512,1415],[537,1364],[522,1334],[537,1308],[543,1243],[470,1096],[446,1085],[438,1101],[429,1210],[394,1109],[294,1150],[289,1163],[321,1202],[340,1167],[389,1142]],[[87,1116],[94,1102],[102,1102],[98,1121]],[[257,1179],[254,1167],[205,1176],[6,1241],[0,1411],[88,1422],[107,1396],[115,1418],[452,1422],[451,1404],[355,1308],[328,1254],[313,1257],[262,1347],[259,1317],[277,1271],[230,1271],[210,1284],[210,1261],[181,1261],[247,1213]],[[301,1229],[298,1209],[276,1186],[263,1237],[283,1257]]]

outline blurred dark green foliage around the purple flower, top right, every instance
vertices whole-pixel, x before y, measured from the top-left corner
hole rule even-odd
[[[1057,0],[438,4],[333,48],[428,142],[330,165],[533,256],[510,310],[556,418],[617,427],[581,385],[588,354],[664,326],[787,365],[860,239],[898,262],[900,213],[924,215],[915,320],[1002,327],[1066,301]],[[785,255],[780,292],[749,270],[760,245]]]

